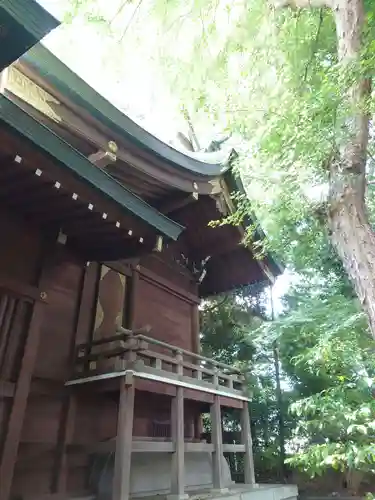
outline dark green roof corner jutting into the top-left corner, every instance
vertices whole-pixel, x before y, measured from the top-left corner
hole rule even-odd
[[[0,71],[59,24],[35,0],[0,0]]]

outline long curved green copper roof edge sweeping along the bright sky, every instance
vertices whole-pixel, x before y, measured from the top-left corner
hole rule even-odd
[[[223,165],[206,163],[185,155],[137,125],[41,44],[27,52],[21,61],[34,68],[53,88],[84,108],[108,129],[157,155],[175,168],[207,177],[216,177],[222,173]]]

